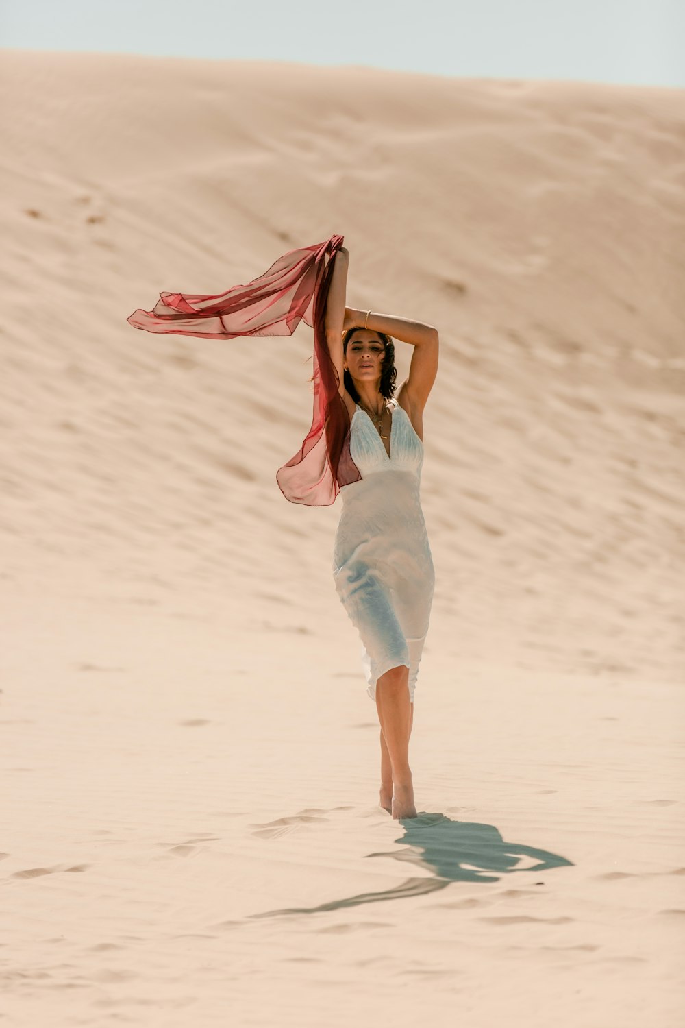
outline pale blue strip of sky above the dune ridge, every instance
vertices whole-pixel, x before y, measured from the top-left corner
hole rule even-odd
[[[0,47],[685,86],[685,0],[0,0]]]

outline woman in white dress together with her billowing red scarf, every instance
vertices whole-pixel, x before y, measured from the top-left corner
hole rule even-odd
[[[147,332],[234,339],[313,328],[313,413],[299,451],[276,473],[291,503],[324,506],[343,494],[336,588],[364,647],[381,725],[381,806],[416,817],[409,736],[433,591],[419,495],[423,408],[437,370],[430,325],[345,306],[343,236],[282,254],[223,293],[162,292],[126,320]],[[394,399],[394,345],[412,343],[409,378]],[[389,401],[389,403],[387,402]]]

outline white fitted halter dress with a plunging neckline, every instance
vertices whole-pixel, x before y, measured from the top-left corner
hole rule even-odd
[[[404,664],[413,702],[435,579],[421,509],[423,444],[407,411],[395,399],[388,403],[389,457],[371,417],[355,404],[350,454],[361,479],[340,489],[333,576],[359,632],[368,695],[375,700],[377,680]]]

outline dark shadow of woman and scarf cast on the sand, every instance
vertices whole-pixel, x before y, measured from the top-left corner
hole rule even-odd
[[[369,853],[368,856],[389,856],[406,860],[418,868],[432,872],[432,878],[408,878],[394,888],[382,892],[361,892],[344,900],[333,900],[318,907],[291,907],[271,910],[251,917],[275,917],[279,914],[317,914],[344,907],[359,907],[366,903],[383,900],[403,900],[407,896],[425,895],[446,888],[450,882],[496,882],[502,875],[512,872],[539,874],[551,868],[573,867],[571,860],[544,849],[526,846],[519,842],[504,842],[492,824],[473,821],[453,821],[440,813],[421,813],[397,822],[405,834],[394,841],[406,847],[388,853]]]

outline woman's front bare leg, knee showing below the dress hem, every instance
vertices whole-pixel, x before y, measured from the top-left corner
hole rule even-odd
[[[392,816],[416,817],[409,766],[413,704],[409,699],[408,667],[392,667],[380,676],[376,683],[376,707],[392,771]]]

